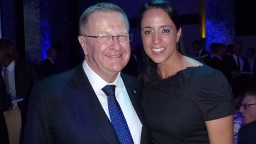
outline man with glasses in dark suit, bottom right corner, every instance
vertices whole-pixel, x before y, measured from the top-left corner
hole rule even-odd
[[[239,129],[238,144],[255,144],[256,142],[256,91],[245,94],[240,112],[243,114],[245,125]]]

